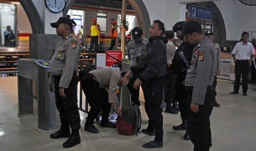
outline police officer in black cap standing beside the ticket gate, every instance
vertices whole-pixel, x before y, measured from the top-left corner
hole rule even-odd
[[[56,107],[61,118],[61,128],[50,135],[51,138],[69,137],[63,143],[64,148],[79,144],[80,115],[77,106],[78,61],[81,44],[72,34],[72,22],[68,18],[59,18],[51,23],[62,39],[55,45],[51,57],[51,78],[48,87],[55,92]],[[53,87],[54,86],[54,87]],[[72,129],[71,135],[69,127]]]

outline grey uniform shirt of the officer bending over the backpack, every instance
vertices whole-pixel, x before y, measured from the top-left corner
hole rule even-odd
[[[108,102],[119,103],[116,90],[121,74],[115,69],[95,69],[89,73],[94,75],[96,82],[99,83],[99,88],[108,88]]]

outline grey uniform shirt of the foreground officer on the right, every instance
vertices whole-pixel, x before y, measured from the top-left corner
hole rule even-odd
[[[194,48],[191,67],[187,71],[185,85],[194,86],[192,102],[204,104],[208,85],[213,85],[217,69],[217,56],[213,43],[204,37]]]

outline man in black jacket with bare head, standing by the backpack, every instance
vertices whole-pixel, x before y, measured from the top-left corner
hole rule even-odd
[[[164,131],[162,128],[162,100],[164,94],[165,74],[166,74],[166,38],[161,34],[165,26],[160,20],[154,20],[149,28],[149,56],[146,66],[139,73],[138,78],[133,83],[137,88],[141,85],[145,98],[145,111],[149,117],[148,127],[141,130],[150,136],[155,135],[154,141],[143,144],[144,148],[163,147]],[[138,64],[137,64],[138,66]]]

